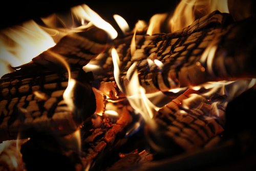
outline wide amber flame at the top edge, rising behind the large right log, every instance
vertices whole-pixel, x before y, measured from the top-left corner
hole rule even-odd
[[[172,18],[169,20],[170,30],[174,32],[187,27],[195,19],[215,10],[229,13],[227,0],[183,0],[176,7]]]

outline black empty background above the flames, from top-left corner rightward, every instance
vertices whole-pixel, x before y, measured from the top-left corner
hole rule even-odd
[[[0,29],[38,19],[55,12],[64,12],[73,6],[87,4],[101,17],[113,24],[113,14],[124,17],[133,28],[138,19],[148,21],[155,13],[171,12],[179,3],[173,1],[5,1],[0,5]]]

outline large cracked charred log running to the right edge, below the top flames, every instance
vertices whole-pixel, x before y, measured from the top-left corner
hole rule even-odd
[[[135,62],[140,84],[147,93],[168,91],[207,81],[254,77],[255,44],[251,44],[255,41],[254,20],[251,18],[234,23],[229,14],[215,11],[173,33],[136,35],[136,51],[133,55],[130,48],[132,36],[116,40],[121,84],[125,87],[129,82],[126,74]],[[104,71],[97,78],[102,80],[100,90],[116,97],[118,90],[109,54],[110,50],[101,55],[100,61],[96,58],[91,62],[101,65]],[[152,60],[152,66],[148,59]],[[153,62],[155,59],[160,60],[163,66],[157,66]],[[233,62],[233,66],[230,62]],[[106,84],[109,88],[106,88]]]

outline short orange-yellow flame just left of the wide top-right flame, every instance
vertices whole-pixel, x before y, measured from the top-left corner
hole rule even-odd
[[[146,34],[152,35],[161,33],[161,25],[166,19],[167,14],[155,14],[150,19],[150,25],[147,28]]]

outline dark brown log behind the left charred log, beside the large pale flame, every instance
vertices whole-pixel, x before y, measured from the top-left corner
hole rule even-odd
[[[50,52],[61,55],[72,67],[83,67],[106,48],[108,34],[96,27],[86,31],[68,34],[49,50],[42,52],[32,61],[49,68],[58,61]],[[51,70],[53,68],[50,68]]]

